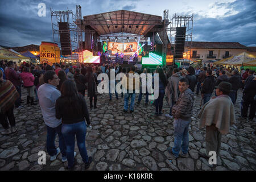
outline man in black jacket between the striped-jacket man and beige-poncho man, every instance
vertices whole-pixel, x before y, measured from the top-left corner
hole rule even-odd
[[[207,103],[210,100],[210,97],[212,96],[214,90],[214,83],[215,79],[214,76],[212,76],[212,71],[208,69],[201,90],[201,94],[204,99],[204,104]]]

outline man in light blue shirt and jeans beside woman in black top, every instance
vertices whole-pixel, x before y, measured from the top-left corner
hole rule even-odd
[[[38,99],[44,122],[47,126],[46,149],[51,156],[50,160],[55,160],[61,152],[62,162],[66,162],[66,146],[61,134],[61,119],[55,117],[55,102],[61,96],[60,91],[56,89],[59,81],[60,79],[54,71],[44,73],[45,84],[41,85],[38,89]],[[59,148],[55,147],[56,135],[59,136]]]

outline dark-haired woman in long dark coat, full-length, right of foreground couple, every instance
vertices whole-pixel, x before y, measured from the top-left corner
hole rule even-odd
[[[93,105],[92,105],[92,100],[94,98],[94,109],[97,108],[97,96],[96,96],[96,82],[95,82],[95,78],[93,76],[93,69],[92,67],[88,67],[87,68],[87,73],[85,75],[86,77],[86,81],[88,82],[88,97],[90,97],[90,109],[92,109]]]

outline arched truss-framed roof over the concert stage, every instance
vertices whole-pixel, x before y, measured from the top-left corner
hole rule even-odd
[[[79,23],[77,22],[77,24]],[[170,24],[168,20],[165,23],[166,26]],[[162,16],[119,10],[84,16],[81,24],[83,31],[96,31],[98,35],[119,32],[146,35],[152,28],[162,29],[164,20],[162,20]]]

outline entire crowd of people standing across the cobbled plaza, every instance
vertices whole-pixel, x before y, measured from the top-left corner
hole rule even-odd
[[[156,67],[138,69],[134,65],[130,68],[122,68],[118,63],[89,65],[81,64],[79,67],[72,64],[46,63],[33,65],[23,63],[19,67],[15,62],[2,61],[0,64],[0,111],[1,124],[5,131],[2,135],[15,133],[14,106],[22,108],[21,88],[27,90],[27,105],[39,104],[42,110],[44,122],[47,126],[47,152],[51,161],[56,156],[62,155],[62,161],[68,161],[68,169],[75,166],[76,156],[75,136],[80,155],[89,168],[92,158],[87,155],[85,146],[86,123],[90,125],[89,111],[85,101],[85,94],[89,97],[90,110],[97,108],[97,85],[102,80],[97,80],[98,75],[106,73],[109,76],[109,100],[112,93],[118,100],[118,93],[111,85],[116,85],[116,80],[111,80],[110,73],[148,73],[159,74],[159,96],[154,100],[155,116],[162,114],[164,97],[170,111],[165,115],[174,118],[174,147],[168,148],[177,158],[188,156],[188,129],[191,123],[194,93],[201,93],[201,109],[199,113],[200,127],[206,126],[207,152],[220,151],[221,135],[229,133],[229,127],[235,122],[234,105],[237,100],[238,89],[243,89],[241,102],[241,117],[252,120],[256,109],[256,76],[249,69],[241,71],[235,68],[226,68],[219,65],[207,67],[188,67],[187,69],[171,67]],[[126,77],[126,85],[123,85],[127,93],[121,93],[124,97],[123,112],[134,112],[135,105],[135,78]],[[129,79],[133,79],[129,81]],[[123,81],[123,80],[121,80]],[[129,83],[133,82],[132,90]],[[142,87],[148,83],[139,80],[139,94],[136,105],[139,107],[142,101]],[[154,79],[152,81],[154,87]],[[114,91],[113,91],[114,89]],[[201,90],[201,92],[200,92]],[[215,91],[214,91],[215,90]],[[145,107],[148,106],[148,90],[146,90]],[[130,107],[129,107],[129,98]],[[202,105],[203,102],[203,105]],[[200,107],[201,107],[200,106]],[[247,115],[250,106],[249,116]],[[143,106],[140,106],[143,107]],[[9,123],[7,121],[9,120]],[[86,122],[85,122],[86,121]],[[55,147],[56,134],[59,136],[59,148]],[[255,134],[255,133],[254,133]],[[181,150],[181,153],[180,153]],[[200,154],[208,158],[205,154]]]

